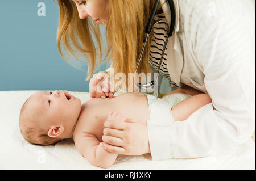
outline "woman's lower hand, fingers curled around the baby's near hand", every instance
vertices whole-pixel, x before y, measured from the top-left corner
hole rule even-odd
[[[147,127],[138,120],[109,117],[104,127],[102,140],[106,151],[124,155],[150,153]]]

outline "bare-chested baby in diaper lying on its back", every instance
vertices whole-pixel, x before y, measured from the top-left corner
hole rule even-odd
[[[181,90],[174,93],[179,93],[180,101],[192,98],[190,95],[180,94],[185,93]],[[173,95],[166,96],[164,100],[171,102]],[[211,102],[207,94],[196,96],[202,97],[197,99],[201,100],[200,107]],[[100,144],[104,122],[108,119],[137,119],[146,125],[150,117],[150,104],[157,101],[158,99],[151,95],[126,93],[114,98],[94,98],[81,104],[80,99],[65,91],[36,92],[22,106],[19,117],[20,131],[28,142],[35,145],[51,145],[73,138],[83,157],[93,165],[106,168],[113,165],[118,154],[109,153]],[[179,104],[176,105],[177,109]],[[176,106],[172,105],[170,109]],[[197,108],[191,109],[193,112]],[[190,114],[183,115],[188,117]],[[180,119],[173,115],[176,121]]]

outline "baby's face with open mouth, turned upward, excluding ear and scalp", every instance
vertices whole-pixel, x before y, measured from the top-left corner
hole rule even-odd
[[[69,129],[80,115],[81,100],[64,91],[42,91],[31,96],[29,107],[40,117],[35,120],[40,121],[42,128],[64,124]]]

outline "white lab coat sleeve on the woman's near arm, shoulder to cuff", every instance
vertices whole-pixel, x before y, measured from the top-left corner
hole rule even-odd
[[[246,31],[251,27],[232,16],[203,26],[194,48],[212,103],[185,121],[174,121],[171,111],[159,117],[165,120],[150,120],[152,159],[223,153],[247,141],[255,130],[255,49]]]

